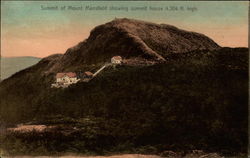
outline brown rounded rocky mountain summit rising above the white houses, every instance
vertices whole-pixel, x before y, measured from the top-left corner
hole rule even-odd
[[[173,53],[218,48],[218,44],[200,33],[167,24],[122,18],[95,27],[86,40],[69,48],[49,72],[65,70],[72,63],[81,67],[105,62],[115,55],[165,61]]]

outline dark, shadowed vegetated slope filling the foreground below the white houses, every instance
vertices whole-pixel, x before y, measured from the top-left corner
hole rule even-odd
[[[1,91],[6,86],[2,85],[2,120],[80,128],[67,136],[57,131],[19,136],[26,145],[33,143],[26,146],[30,151],[41,139],[40,146],[59,152],[246,152],[247,51],[224,48],[169,56],[168,63],[150,67],[110,68],[89,83],[64,90],[37,86],[42,79],[26,87],[19,83],[9,94]]]

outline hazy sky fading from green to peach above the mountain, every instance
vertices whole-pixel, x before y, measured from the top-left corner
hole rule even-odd
[[[88,38],[95,26],[115,18],[170,24],[205,34],[220,46],[248,47],[248,5],[246,1],[1,1],[1,54],[46,57],[65,53]],[[86,10],[86,6],[107,10]],[[126,7],[129,10],[121,9]],[[133,7],[147,10],[132,11]]]

